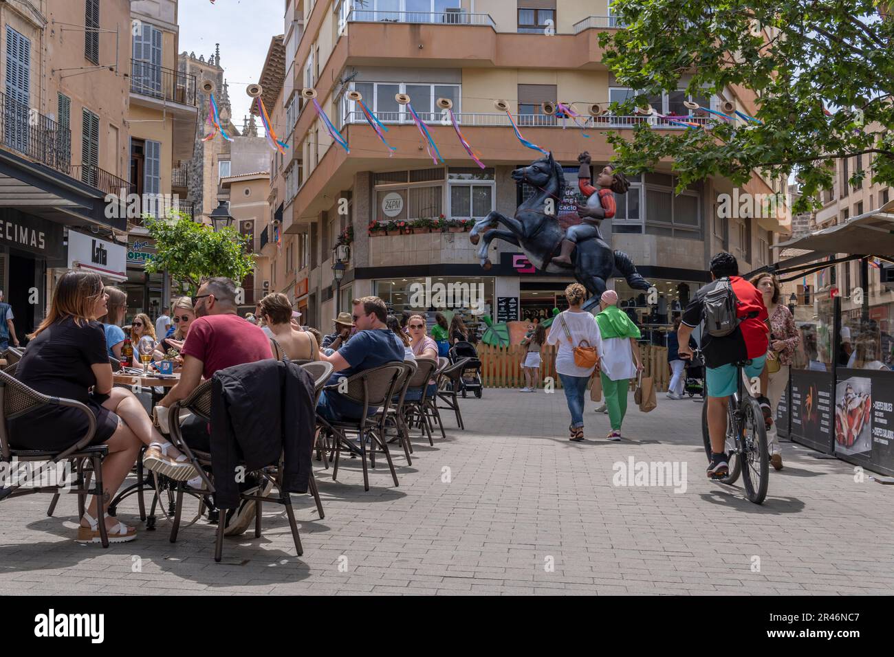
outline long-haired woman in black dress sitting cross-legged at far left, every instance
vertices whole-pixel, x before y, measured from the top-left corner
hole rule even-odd
[[[105,443],[108,448],[102,471],[104,508],[131,471],[141,444],[150,445],[147,453],[155,451],[155,463],[163,466],[150,466],[144,459],[149,469],[178,480],[196,476],[186,457],[153,428],[130,388],[112,387],[105,330],[97,322],[97,317],[107,314],[107,302],[98,274],[63,274],[46,319],[30,335],[31,342],[16,370],[21,383],[51,397],[80,401],[96,418],[92,444]],[[63,451],[78,442],[88,426],[79,409],[43,407],[9,421],[10,443],[22,450]],[[80,543],[100,541],[95,519],[99,502],[94,498],[80,520]],[[117,518],[105,518],[105,526],[111,543],[136,537],[135,530]]]

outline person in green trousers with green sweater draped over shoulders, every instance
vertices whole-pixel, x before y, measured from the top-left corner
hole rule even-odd
[[[630,379],[642,371],[639,360],[639,329],[618,307],[618,292],[606,290],[599,299],[602,310],[596,315],[600,361],[597,369],[609,409],[610,441],[620,441],[620,426],[627,413]]]

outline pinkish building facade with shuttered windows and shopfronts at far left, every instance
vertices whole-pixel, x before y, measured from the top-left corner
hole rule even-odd
[[[20,339],[68,267],[125,278],[105,196],[129,188],[130,34],[127,0],[0,3],[0,289]]]

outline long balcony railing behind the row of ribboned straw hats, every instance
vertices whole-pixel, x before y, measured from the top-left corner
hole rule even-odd
[[[417,112],[419,118],[426,123],[450,125],[447,114],[441,112]],[[413,122],[409,113],[403,112],[379,112],[375,114],[379,121],[383,123],[406,123]],[[483,126],[483,127],[510,127],[509,117],[506,114],[453,114],[460,125]],[[569,128],[578,127],[578,124],[584,128],[591,130],[605,128],[634,128],[641,123],[651,125],[653,128],[661,130],[683,130],[687,128],[685,125],[678,125],[666,119],[657,116],[614,116],[611,114],[603,114],[603,116],[581,116],[578,123],[571,119],[561,119],[546,114],[516,114],[515,120],[519,126],[529,128],[561,128],[567,126]],[[696,123],[698,125],[710,125],[711,119],[707,116],[679,116],[680,121]],[[348,123],[366,123],[367,120],[362,112],[349,112],[347,115]]]

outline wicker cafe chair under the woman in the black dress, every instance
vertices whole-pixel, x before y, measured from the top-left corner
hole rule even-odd
[[[19,417],[45,406],[67,406],[73,409],[79,409],[88,418],[87,432],[81,436],[80,440],[71,447],[63,451],[43,451],[43,450],[17,450],[13,449],[9,443],[9,427],[8,420]],[[6,372],[0,372],[0,451],[3,454],[4,462],[10,462],[13,458],[18,461],[50,461],[52,463],[72,463],[77,471],[77,477],[72,485],[71,490],[64,490],[62,485],[36,486],[34,488],[21,489],[17,485],[9,486],[0,491],[0,499],[7,497],[19,497],[32,493],[74,493],[78,495],[78,520],[84,515],[86,508],[87,496],[93,493],[97,496],[97,500],[103,497],[103,459],[108,454],[108,448],[105,444],[90,445],[94,434],[97,431],[97,419],[93,412],[80,401],[60,399],[58,397],[49,397],[32,390],[24,383],[13,378]],[[87,468],[89,467],[89,470]],[[93,486],[84,482],[85,471],[89,471],[93,476]],[[99,538],[103,547],[109,546],[108,534],[105,528],[105,510],[102,504],[97,504],[97,528],[99,529]]]

